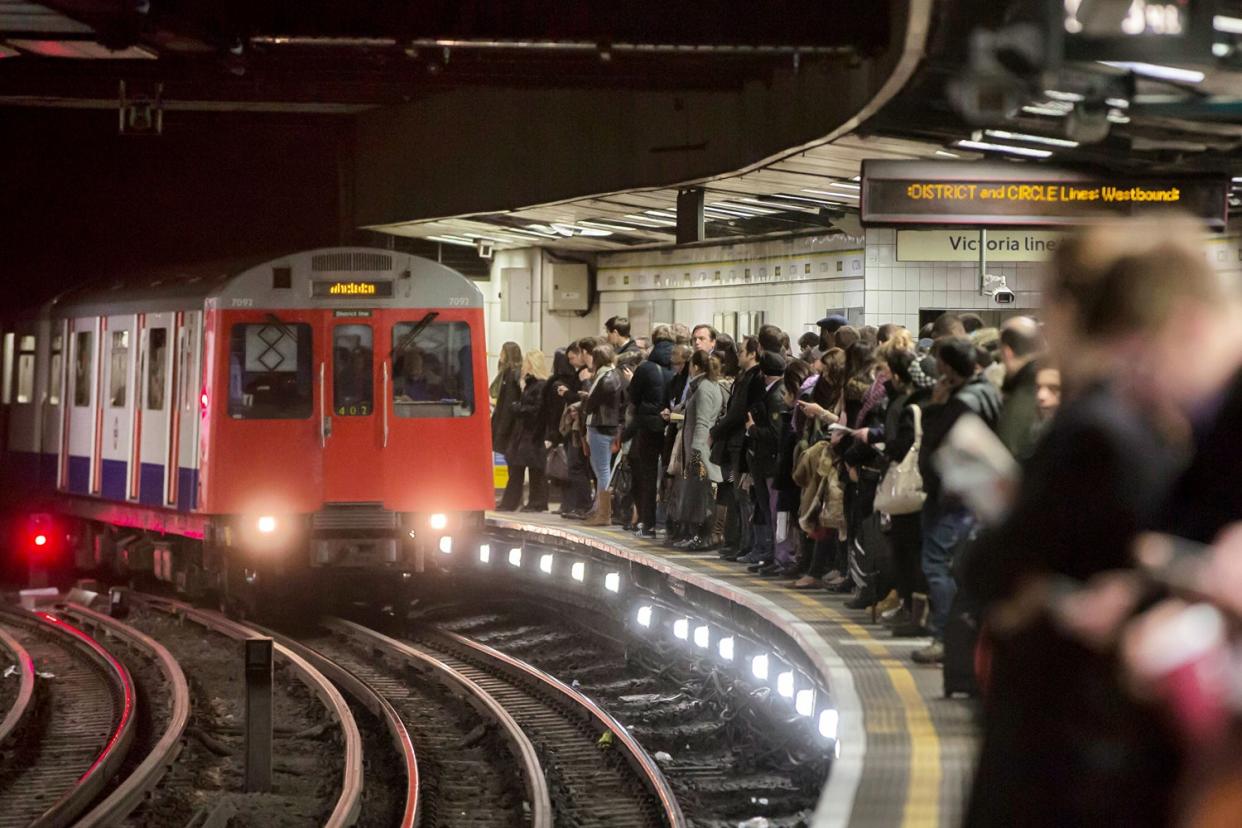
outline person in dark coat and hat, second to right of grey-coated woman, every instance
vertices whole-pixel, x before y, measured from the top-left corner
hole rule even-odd
[[[755,541],[750,554],[739,561],[751,565],[770,564],[776,550],[776,515],[770,497],[771,480],[776,477],[785,405],[785,358],[768,351],[759,358],[764,377],[764,396],[746,412],[746,467],[750,469],[755,500]]]

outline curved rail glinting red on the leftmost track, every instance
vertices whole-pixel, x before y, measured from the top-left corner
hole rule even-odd
[[[37,634],[58,638],[60,644],[67,644],[99,667],[103,678],[113,690],[119,693],[114,701],[119,704],[117,724],[89,767],[77,782],[48,806],[32,826],[68,826],[81,814],[107,787],[108,782],[120,770],[134,739],[134,710],[137,696],[129,669],[99,642],[73,624],[42,611],[19,610],[10,606],[0,607],[0,614],[6,621],[19,623]]]

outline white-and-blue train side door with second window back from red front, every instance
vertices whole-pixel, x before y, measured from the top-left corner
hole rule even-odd
[[[103,361],[99,418],[99,472],[97,493],[109,500],[125,500],[130,493],[134,437],[135,317],[108,317],[101,343]]]

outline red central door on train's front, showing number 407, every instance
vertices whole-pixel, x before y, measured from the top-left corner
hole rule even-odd
[[[384,499],[386,422],[376,394],[386,377],[379,376],[380,366],[386,370],[383,333],[366,310],[328,313],[324,326],[325,335],[319,336],[328,348],[319,364],[323,499],[378,503]]]

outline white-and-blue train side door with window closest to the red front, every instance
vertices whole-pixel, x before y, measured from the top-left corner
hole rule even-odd
[[[140,317],[138,380],[134,384],[134,469],[129,478],[129,497],[153,506],[165,504],[166,475],[171,456],[173,348],[170,330],[174,314]],[[174,469],[175,470],[175,469]]]

